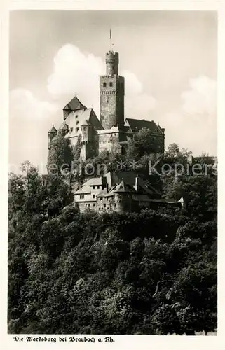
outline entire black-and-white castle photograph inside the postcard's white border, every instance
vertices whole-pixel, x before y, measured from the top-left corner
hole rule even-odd
[[[217,335],[217,21],[11,11],[9,335]]]

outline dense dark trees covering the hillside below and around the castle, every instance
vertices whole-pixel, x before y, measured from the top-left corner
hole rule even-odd
[[[168,159],[187,154],[174,148]],[[176,153],[175,153],[176,151]],[[168,160],[169,161],[169,160]],[[167,335],[217,328],[217,176],[162,176],[187,209],[79,213],[60,176],[9,179],[8,332]]]

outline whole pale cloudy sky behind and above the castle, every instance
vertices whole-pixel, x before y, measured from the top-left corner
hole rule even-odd
[[[105,52],[119,53],[125,118],[154,120],[193,155],[217,155],[217,15],[20,10],[10,16],[9,162],[41,167],[75,95],[99,117]]]

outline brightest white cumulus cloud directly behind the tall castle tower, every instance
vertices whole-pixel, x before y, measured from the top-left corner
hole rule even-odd
[[[53,95],[77,94],[86,106],[100,112],[99,76],[105,73],[100,57],[84,55],[79,48],[67,44],[58,50],[54,59],[54,71],[48,78],[48,91]],[[147,118],[156,106],[156,100],[145,94],[142,83],[130,71],[122,71],[125,77],[125,116]]]

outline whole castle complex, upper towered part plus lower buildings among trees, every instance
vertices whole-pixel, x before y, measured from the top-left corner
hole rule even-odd
[[[48,148],[57,134],[69,139],[71,146],[79,142],[80,157],[94,158],[101,151],[126,152],[129,140],[146,128],[150,131],[151,153],[164,153],[165,130],[151,120],[125,118],[125,79],[118,74],[118,52],[106,53],[106,74],[100,76],[100,120],[92,108],[87,108],[75,96],[64,106],[63,122],[59,130],[48,132]],[[183,207],[184,200],[165,200],[158,190],[135,172],[108,172],[92,178],[74,190],[74,202],[80,211],[92,209],[99,213],[112,211],[139,211],[161,205]]]

